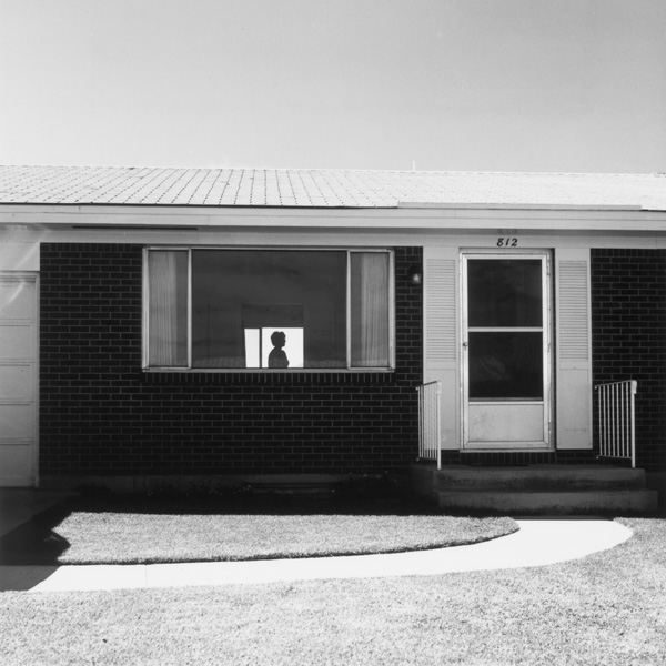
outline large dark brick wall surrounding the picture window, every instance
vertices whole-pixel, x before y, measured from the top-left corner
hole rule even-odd
[[[416,452],[420,249],[397,249],[394,373],[141,371],[140,245],[41,246],[42,476],[380,473]]]

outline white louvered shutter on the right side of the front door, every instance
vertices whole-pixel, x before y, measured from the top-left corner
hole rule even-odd
[[[592,448],[589,250],[556,253],[557,448]]]

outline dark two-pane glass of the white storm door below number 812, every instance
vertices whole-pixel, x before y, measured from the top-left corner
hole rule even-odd
[[[544,398],[541,259],[467,261],[471,401]]]

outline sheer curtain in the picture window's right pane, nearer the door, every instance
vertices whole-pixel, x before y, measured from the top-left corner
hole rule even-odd
[[[352,366],[389,367],[389,254],[352,252]]]

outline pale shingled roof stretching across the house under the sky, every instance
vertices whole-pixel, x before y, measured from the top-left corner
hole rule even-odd
[[[666,173],[0,167],[1,203],[296,208],[535,205],[666,211]]]

